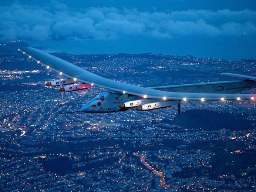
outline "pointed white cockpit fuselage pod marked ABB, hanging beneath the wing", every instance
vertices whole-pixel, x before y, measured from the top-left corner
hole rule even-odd
[[[111,113],[127,111],[128,108],[119,108],[124,102],[136,100],[138,96],[123,94],[119,92],[103,92],[94,99],[86,103],[81,111],[84,113]]]

